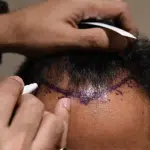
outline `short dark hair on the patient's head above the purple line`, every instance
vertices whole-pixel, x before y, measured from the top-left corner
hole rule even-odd
[[[43,79],[48,79],[57,86],[67,73],[70,86],[79,88],[91,84],[97,88],[107,87],[124,70],[150,91],[150,41],[147,38],[139,38],[122,56],[117,52],[71,50],[26,60],[17,75],[25,84],[43,84]]]

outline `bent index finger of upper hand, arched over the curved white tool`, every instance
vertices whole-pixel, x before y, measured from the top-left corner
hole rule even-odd
[[[90,17],[100,17],[102,19],[117,19],[122,28],[128,32],[135,33],[137,28],[133,23],[133,19],[128,9],[127,3],[124,1],[88,1],[87,7],[84,9],[83,18],[79,21]]]

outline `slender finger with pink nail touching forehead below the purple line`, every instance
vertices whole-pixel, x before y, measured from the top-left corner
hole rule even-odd
[[[69,112],[70,112],[70,99],[63,98],[59,100],[55,108],[55,114],[64,122],[64,132],[60,143],[61,148],[65,148],[67,145]]]

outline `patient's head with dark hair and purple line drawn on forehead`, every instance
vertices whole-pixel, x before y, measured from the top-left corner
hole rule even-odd
[[[123,56],[71,51],[27,61],[18,72],[53,111],[71,98],[70,150],[150,148],[150,43],[139,40]],[[46,137],[45,137],[46,138]]]

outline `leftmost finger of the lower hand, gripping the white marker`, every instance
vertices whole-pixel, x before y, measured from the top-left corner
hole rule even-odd
[[[7,126],[13,109],[22,93],[24,83],[14,76],[0,83],[0,126]]]

